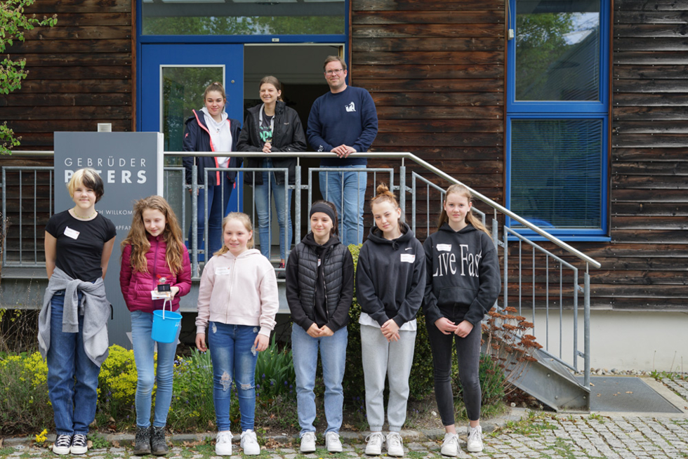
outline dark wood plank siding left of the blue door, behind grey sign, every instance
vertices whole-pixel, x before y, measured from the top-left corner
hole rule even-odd
[[[0,98],[0,121],[21,137],[19,149],[51,150],[53,132],[95,131],[98,123],[111,123],[112,131],[135,130],[133,5],[132,0],[37,0],[26,8],[38,18],[57,14],[58,23],[28,31],[24,43],[7,49],[13,59],[26,59],[28,71],[18,91]],[[0,159],[0,166],[52,165],[51,157]],[[25,172],[20,178],[8,172],[6,185],[13,210],[4,215],[10,223],[7,258],[18,261],[21,248],[23,260],[32,260],[34,253],[43,260],[44,225],[55,211],[48,199],[49,175]],[[27,239],[34,222],[39,236]]]

